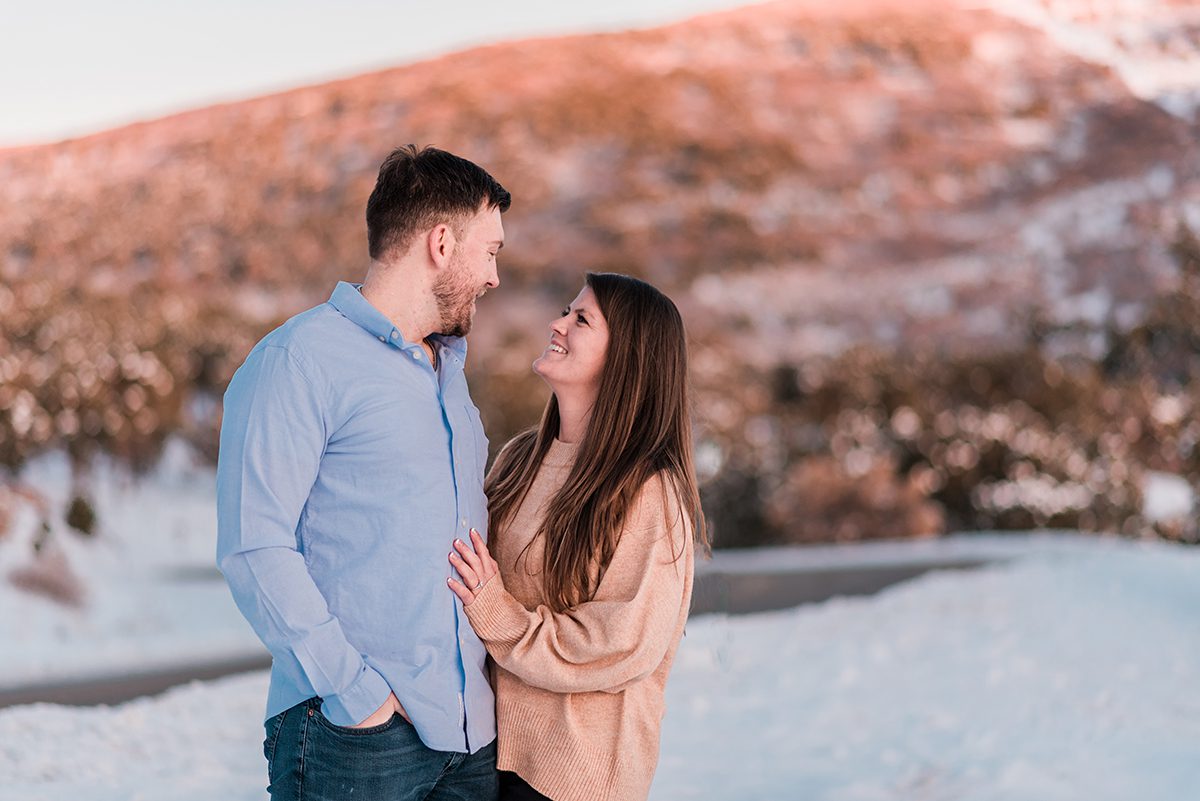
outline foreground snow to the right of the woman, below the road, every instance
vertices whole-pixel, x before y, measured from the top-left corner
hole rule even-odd
[[[1097,543],[692,624],[656,797],[1194,797],[1198,578]]]

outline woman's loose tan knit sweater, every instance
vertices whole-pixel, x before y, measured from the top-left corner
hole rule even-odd
[[[498,767],[553,801],[638,801],[691,602],[691,524],[661,480],[647,482],[594,597],[552,612],[533,535],[576,450],[554,440],[511,524],[491,532],[500,573],[467,616],[493,660]]]

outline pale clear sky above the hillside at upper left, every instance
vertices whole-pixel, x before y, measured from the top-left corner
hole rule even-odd
[[[488,42],[654,26],[749,2],[6,0],[0,146],[53,141]]]

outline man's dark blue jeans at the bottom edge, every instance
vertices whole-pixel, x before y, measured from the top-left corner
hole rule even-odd
[[[310,698],[266,721],[272,801],[496,801],[496,743],[474,754],[427,748],[400,715],[350,729]]]

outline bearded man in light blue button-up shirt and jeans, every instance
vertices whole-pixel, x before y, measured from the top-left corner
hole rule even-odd
[[[226,392],[217,564],[274,657],[272,799],[496,797],[486,652],[445,583],[454,541],[486,535],[463,337],[509,203],[463,158],[392,152],[366,281],[269,333]]]

